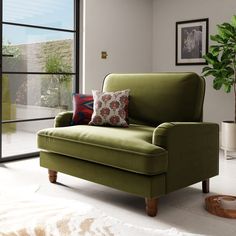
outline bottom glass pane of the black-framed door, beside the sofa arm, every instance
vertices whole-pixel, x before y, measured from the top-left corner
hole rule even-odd
[[[2,157],[37,152],[36,133],[53,127],[53,120],[19,122],[2,125]]]

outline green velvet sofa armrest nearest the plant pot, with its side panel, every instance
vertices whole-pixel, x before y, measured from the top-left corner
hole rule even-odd
[[[154,130],[152,142],[168,151],[167,192],[218,175],[218,124],[163,123]]]

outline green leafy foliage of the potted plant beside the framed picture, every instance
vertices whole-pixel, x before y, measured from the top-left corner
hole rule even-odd
[[[218,34],[211,35],[210,39],[216,42],[209,48],[209,53],[203,56],[208,66],[202,69],[203,76],[213,76],[213,88],[223,87],[226,93],[236,84],[236,15],[231,23],[217,25]],[[212,66],[212,67],[211,67]]]

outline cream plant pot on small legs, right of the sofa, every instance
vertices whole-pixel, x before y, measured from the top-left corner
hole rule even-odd
[[[234,121],[223,121],[222,128],[222,149],[226,159],[231,159],[227,151],[236,152],[236,123]]]

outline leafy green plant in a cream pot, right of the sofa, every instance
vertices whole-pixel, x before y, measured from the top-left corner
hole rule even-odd
[[[216,35],[210,36],[215,44],[203,56],[208,66],[203,68],[202,73],[205,77],[213,76],[214,89],[234,92],[234,120],[222,122],[221,145],[227,158],[227,151],[236,151],[236,15],[230,23],[217,25],[217,31]]]

